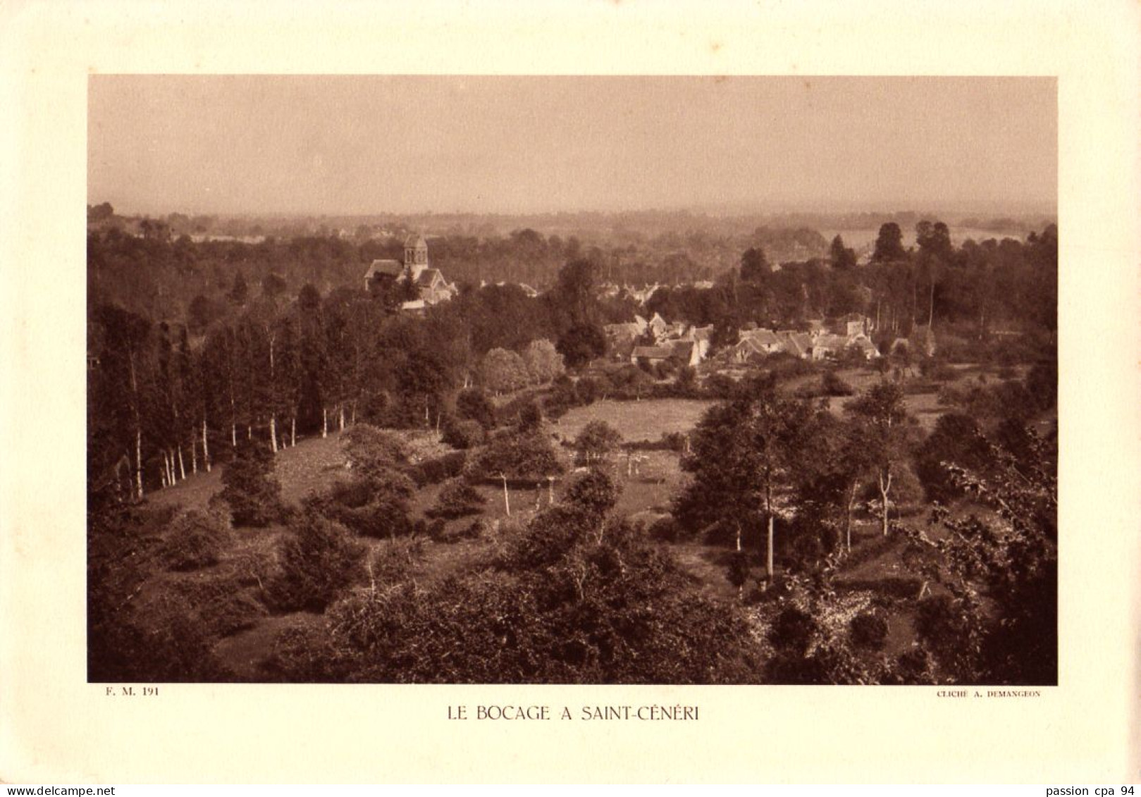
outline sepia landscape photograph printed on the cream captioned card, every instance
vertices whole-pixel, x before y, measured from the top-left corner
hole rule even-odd
[[[1058,106],[90,75],[88,682],[1058,685]]]

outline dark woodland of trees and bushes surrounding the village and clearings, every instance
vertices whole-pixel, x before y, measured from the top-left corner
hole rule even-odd
[[[372,259],[399,257],[399,237],[196,243],[185,231],[176,234],[192,219],[176,219],[173,226],[169,219],[145,220],[135,235],[108,223],[113,214],[94,210],[88,236],[92,555],[98,568],[114,567],[108,562],[129,547],[126,540],[147,538],[156,522],[183,523],[186,539],[207,547],[230,534],[230,523],[286,523],[284,570],[258,579],[267,603],[272,610],[327,610],[337,621],[330,631],[289,637],[262,677],[1057,678],[1057,430],[1036,426],[1057,395],[1052,225],[1025,239],[956,246],[946,225],[920,220],[916,244],[905,247],[899,225],[887,222],[866,262],[840,236],[828,242],[807,228],[720,238],[662,233],[589,246],[533,229],[442,235],[431,238],[432,265],[459,282],[461,292],[416,315],[400,312],[394,296],[362,286]],[[785,251],[799,257],[775,254]],[[505,284],[479,287],[482,280]],[[697,280],[712,286],[693,285]],[[517,282],[544,290],[532,298]],[[607,293],[608,283],[664,287],[641,304],[622,291]],[[895,361],[895,381],[890,365],[881,367],[882,382],[855,396],[837,416],[814,402],[819,393],[780,389],[785,375],[804,372],[801,364],[774,366],[744,381],[714,373],[698,377],[691,369],[663,381],[663,374],[632,365],[599,368],[607,353],[604,325],[631,320],[636,312],[713,325],[719,345],[735,342],[737,330],[748,325],[798,328],[861,312],[873,319],[882,350],[921,328],[933,331],[940,348],[936,359]],[[936,380],[954,364],[980,361],[1021,371],[957,393],[948,382],[944,391],[952,412],[931,434],[921,433],[904,407],[901,369],[919,367]],[[831,383],[825,376],[824,395],[852,392],[834,375]],[[492,400],[518,391],[518,401]],[[366,561],[353,534],[414,536],[406,503],[424,474],[408,470],[399,444],[375,437],[374,429],[432,430],[460,450],[454,469],[442,465],[446,472],[428,477],[459,479],[440,510],[447,517],[478,498],[464,491],[464,474],[500,474],[505,493],[509,479],[565,472],[550,449],[545,418],[602,395],[720,401],[685,444],[681,466],[691,481],[677,496],[669,523],[650,532],[610,512],[617,487],[602,465],[617,441],[594,429],[593,438],[576,442],[586,475],[576,477],[559,503],[552,493],[552,503],[528,524],[504,531],[480,567],[438,587],[394,578],[390,589],[377,588],[383,568]],[[281,505],[270,475],[274,454],[340,430],[362,430],[350,454],[353,478],[302,506]],[[226,528],[210,518],[155,520],[140,504],[221,465]],[[946,512],[968,495],[992,514]],[[926,506],[931,523],[949,534],[899,531],[889,507],[900,503]],[[863,612],[855,636],[836,635],[834,569],[852,552],[858,506],[867,507],[884,538],[889,532],[907,538],[915,572],[923,574],[917,627],[924,644],[913,654],[888,660],[875,652],[890,607]],[[698,537],[738,554],[729,578],[743,601],[755,585],[771,585],[777,571],[783,574],[786,597],[766,609],[764,644],[750,641],[737,609],[698,597],[654,542]],[[144,553],[173,555],[157,548]],[[195,566],[192,556],[188,567]],[[124,650],[146,645],[129,628],[108,631],[115,624],[108,607],[120,605],[132,583],[98,568],[94,672],[127,677],[132,665]],[[349,589],[370,580],[370,592]],[[488,619],[493,616],[499,626]],[[459,628],[464,633],[456,635]],[[133,672],[135,680],[226,680],[211,669],[204,648],[186,652],[200,633],[185,623],[164,633],[171,634],[168,658]],[[504,635],[513,640],[507,648],[496,642]],[[179,648],[180,636],[192,640],[188,646]],[[451,646],[434,653],[421,645],[429,639]],[[443,659],[451,664],[444,667]]]

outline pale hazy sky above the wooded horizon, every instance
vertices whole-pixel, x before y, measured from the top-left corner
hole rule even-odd
[[[136,213],[1052,211],[1057,83],[115,76],[88,201]]]

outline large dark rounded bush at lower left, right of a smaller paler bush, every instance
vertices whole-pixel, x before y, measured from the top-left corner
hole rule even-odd
[[[282,542],[282,567],[270,585],[283,610],[324,611],[364,576],[365,546],[338,522],[302,513]]]

